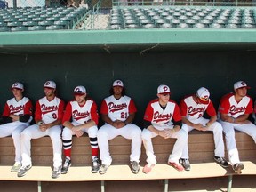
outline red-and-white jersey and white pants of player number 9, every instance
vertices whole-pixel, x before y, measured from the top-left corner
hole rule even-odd
[[[36,120],[42,120],[45,124],[51,124],[56,120],[61,120],[63,116],[64,101],[55,97],[49,101],[46,97],[36,102]],[[21,155],[22,165],[28,166],[31,162],[31,139],[38,139],[46,135],[50,136],[53,148],[53,166],[62,165],[62,142],[60,139],[61,124],[52,126],[45,132],[39,129],[39,125],[33,124],[21,132]]]

